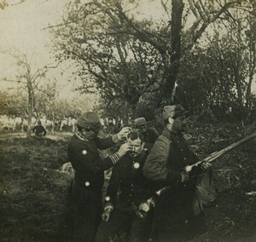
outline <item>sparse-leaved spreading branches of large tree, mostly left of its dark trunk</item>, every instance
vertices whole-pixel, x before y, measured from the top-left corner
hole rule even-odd
[[[189,51],[207,26],[235,3],[162,1],[163,17],[138,18],[143,6],[139,1],[73,1],[54,28],[56,57],[76,60],[84,79],[81,89],[98,91],[107,107],[125,107],[134,115],[147,94],[154,108],[162,101],[170,104],[182,49]],[[188,26],[185,20],[192,15],[195,22]]]

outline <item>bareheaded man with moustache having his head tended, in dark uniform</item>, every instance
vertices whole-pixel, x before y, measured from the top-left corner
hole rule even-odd
[[[143,176],[143,164],[147,158],[143,150],[143,135],[132,130],[127,135],[127,142],[132,151],[113,167],[103,221],[96,233],[98,242],[124,237],[124,232],[131,242],[149,239],[152,182]]]

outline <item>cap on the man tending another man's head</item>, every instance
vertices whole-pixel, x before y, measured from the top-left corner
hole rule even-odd
[[[78,120],[78,125],[87,130],[99,131],[102,130],[100,118],[94,112],[84,112]]]

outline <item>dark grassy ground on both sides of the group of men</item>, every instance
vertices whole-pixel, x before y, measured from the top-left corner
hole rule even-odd
[[[238,141],[239,124],[190,120],[186,137],[200,158]],[[71,133],[0,134],[0,240],[69,241],[73,174],[61,170]],[[256,241],[256,141],[212,163],[217,198],[205,208],[209,232],[195,241]]]

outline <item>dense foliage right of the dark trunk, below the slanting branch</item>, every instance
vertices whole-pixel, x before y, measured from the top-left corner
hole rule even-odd
[[[249,1],[247,1],[249,3]],[[253,5],[244,5],[253,9]],[[255,109],[255,6],[232,9],[212,26],[205,43],[184,56],[178,79],[179,99],[192,112],[212,109],[219,118],[247,117]]]

